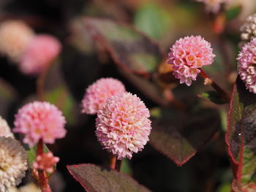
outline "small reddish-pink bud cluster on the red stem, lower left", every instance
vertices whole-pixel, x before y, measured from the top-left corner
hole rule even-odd
[[[41,169],[46,172],[52,173],[54,164],[59,162],[59,157],[53,156],[53,153],[43,153],[37,155],[36,161],[33,164],[34,169]]]

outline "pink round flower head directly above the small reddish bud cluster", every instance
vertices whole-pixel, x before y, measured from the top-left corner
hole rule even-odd
[[[30,147],[39,139],[53,144],[55,139],[65,136],[65,123],[64,116],[55,105],[45,101],[34,101],[18,110],[13,131],[25,134],[23,142],[28,143]]]

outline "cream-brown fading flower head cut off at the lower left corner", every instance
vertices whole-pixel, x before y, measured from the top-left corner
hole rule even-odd
[[[0,192],[20,184],[27,169],[26,157],[20,142],[0,137]]]

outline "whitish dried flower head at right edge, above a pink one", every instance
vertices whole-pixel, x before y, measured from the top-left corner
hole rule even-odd
[[[250,41],[256,37],[256,13],[246,18],[246,22],[240,28],[241,39]]]

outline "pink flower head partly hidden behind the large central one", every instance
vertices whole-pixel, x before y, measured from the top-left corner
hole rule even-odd
[[[86,89],[82,106],[82,112],[86,114],[96,114],[105,105],[110,96],[124,93],[124,84],[113,78],[101,78]]]

